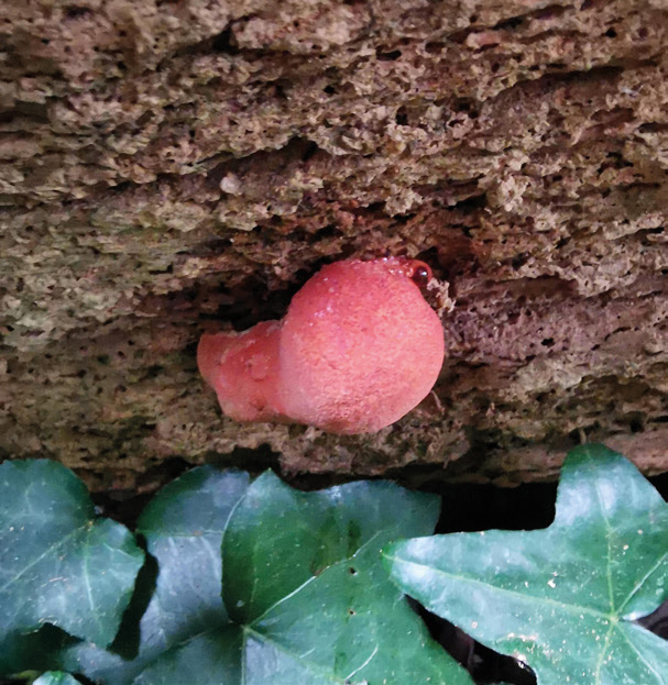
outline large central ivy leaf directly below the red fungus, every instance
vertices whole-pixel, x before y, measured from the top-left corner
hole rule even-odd
[[[223,535],[231,623],[158,659],[136,685],[471,685],[393,586],[380,550],[430,532],[438,499],[390,483],[300,493],[265,473]]]

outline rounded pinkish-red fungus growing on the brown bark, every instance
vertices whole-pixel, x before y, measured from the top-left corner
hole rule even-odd
[[[416,259],[325,266],[282,321],[202,335],[199,371],[238,421],[294,421],[371,433],[418,405],[438,378],[443,331]]]

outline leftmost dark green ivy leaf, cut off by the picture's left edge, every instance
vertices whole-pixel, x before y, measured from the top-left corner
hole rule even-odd
[[[53,623],[109,644],[143,552],[98,518],[84,484],[57,462],[0,465],[0,643]]]

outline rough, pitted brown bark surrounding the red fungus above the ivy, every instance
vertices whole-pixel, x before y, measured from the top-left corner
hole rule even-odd
[[[1,456],[94,487],[258,449],[293,474],[512,484],[585,439],[668,469],[666,0],[25,0],[0,21]],[[420,407],[370,437],[220,416],[204,330],[385,254],[447,295]]]

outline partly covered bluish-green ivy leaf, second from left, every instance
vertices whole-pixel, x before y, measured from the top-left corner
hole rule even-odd
[[[204,466],[164,487],[138,521],[158,573],[132,659],[83,643],[64,653],[61,666],[105,685],[127,685],[173,645],[226,626],[220,544],[230,511],[249,479],[245,473]]]

